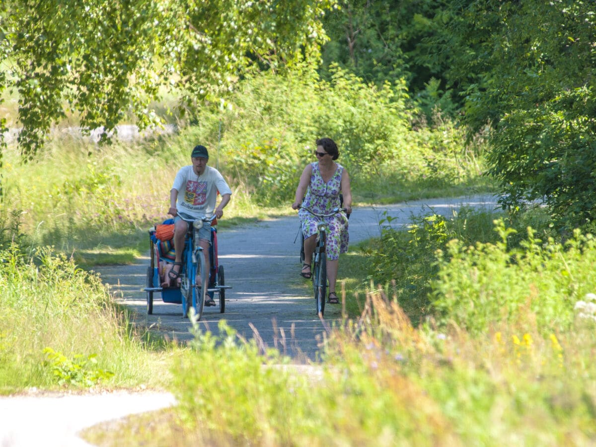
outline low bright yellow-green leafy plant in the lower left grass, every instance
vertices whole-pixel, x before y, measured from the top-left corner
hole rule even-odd
[[[92,387],[101,381],[113,377],[114,373],[95,368],[97,355],[83,356],[76,354],[69,359],[61,352],[55,352],[51,347],[44,349],[46,360],[44,367],[50,368],[58,385],[72,385],[76,387]]]

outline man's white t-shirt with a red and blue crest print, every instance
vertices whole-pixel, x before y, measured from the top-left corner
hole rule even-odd
[[[196,175],[192,165],[182,167],[172,188],[178,191],[178,211],[193,218],[213,217],[217,193],[232,194],[221,173],[210,166],[205,166],[203,175]]]

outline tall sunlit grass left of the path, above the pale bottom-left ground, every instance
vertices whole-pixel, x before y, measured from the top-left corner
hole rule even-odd
[[[18,248],[0,251],[0,392],[159,386],[142,334],[97,275],[49,249]]]

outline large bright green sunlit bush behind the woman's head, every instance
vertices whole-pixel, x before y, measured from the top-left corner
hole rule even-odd
[[[225,172],[263,204],[291,200],[321,136],[338,143],[338,162],[350,172],[354,193],[374,194],[370,201],[387,191],[474,182],[482,154],[466,144],[465,129],[440,114],[433,126],[412,128],[407,104],[403,82],[378,88],[339,67],[327,82],[305,69],[284,78],[247,77],[228,96],[228,108],[205,108],[198,125],[217,129],[222,120]]]

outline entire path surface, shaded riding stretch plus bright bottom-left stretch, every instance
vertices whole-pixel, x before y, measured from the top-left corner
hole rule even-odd
[[[493,209],[489,196],[448,200],[412,201],[388,206],[357,207],[350,217],[350,242],[379,234],[378,221],[387,212],[392,225],[408,224],[412,215],[434,213],[451,216],[461,205]],[[218,322],[228,324],[262,346],[275,346],[298,364],[317,359],[325,331],[315,314],[310,283],[299,276],[297,216],[275,218],[219,232],[219,260],[225,268],[226,311],[205,308],[200,325],[218,331]],[[145,275],[148,257],[130,266],[97,268],[111,285],[119,302],[135,311],[135,323],[151,326],[170,339],[189,340],[190,322],[181,316],[180,305],[166,304],[154,295],[153,315],[147,315]],[[339,278],[342,277],[340,264]],[[339,290],[339,286],[338,286]],[[341,306],[327,305],[325,321],[340,318]],[[254,327],[254,330],[253,330]],[[168,393],[108,393],[106,395],[14,396],[0,398],[0,446],[86,445],[76,433],[94,424],[172,405]]]

